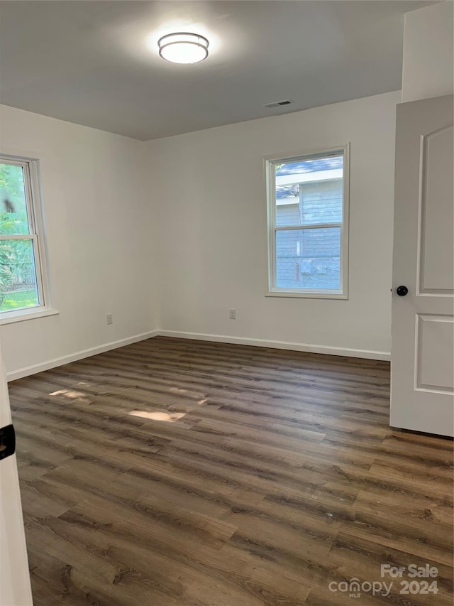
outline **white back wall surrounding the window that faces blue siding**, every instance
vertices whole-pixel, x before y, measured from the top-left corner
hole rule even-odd
[[[389,354],[399,101],[400,92],[392,92],[145,144],[160,226],[160,328]],[[265,297],[262,156],[348,141],[349,300]],[[229,308],[237,320],[228,319]]]

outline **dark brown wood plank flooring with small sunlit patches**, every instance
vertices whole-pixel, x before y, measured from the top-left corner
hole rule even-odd
[[[453,442],[387,362],[156,337],[10,396],[35,606],[453,603]]]

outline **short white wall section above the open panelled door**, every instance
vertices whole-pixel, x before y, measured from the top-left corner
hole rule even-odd
[[[405,14],[402,102],[453,94],[453,2]]]

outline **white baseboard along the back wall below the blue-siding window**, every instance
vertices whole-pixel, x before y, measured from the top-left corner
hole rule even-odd
[[[201,332],[178,332],[177,330],[158,330],[157,333],[161,337],[177,337],[179,339],[195,339],[199,341],[214,341],[218,343],[234,343],[236,345],[255,345],[256,347],[272,347],[276,350],[291,350],[295,352],[309,352],[313,354],[328,354],[334,356],[348,356],[365,359],[391,359],[391,354],[389,352],[375,352],[372,350],[353,350],[349,347],[309,345],[308,343],[294,343],[291,341],[269,341],[265,339],[251,339],[249,337],[231,337],[228,335],[206,335]]]

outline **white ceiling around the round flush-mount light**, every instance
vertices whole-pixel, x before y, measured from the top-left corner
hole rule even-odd
[[[2,1],[0,101],[147,140],[398,90],[403,15],[428,4]],[[209,58],[160,59],[172,31],[209,38]]]

